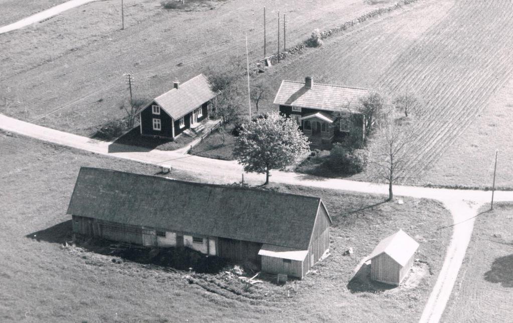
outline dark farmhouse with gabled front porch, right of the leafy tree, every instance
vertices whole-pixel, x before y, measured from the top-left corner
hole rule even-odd
[[[368,89],[283,80],[274,98],[280,113],[293,118],[315,148],[329,149],[333,142],[361,144],[365,116],[358,113],[359,99]]]

